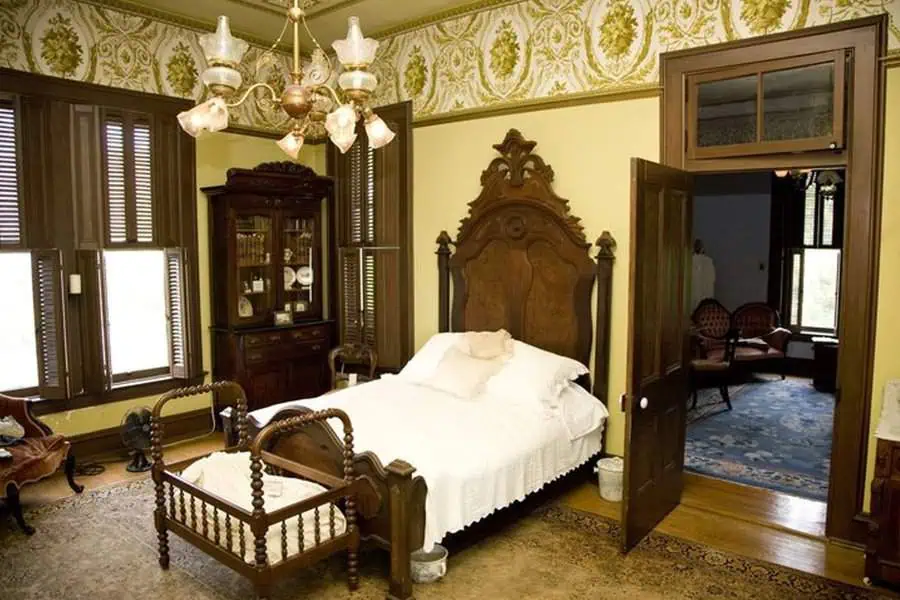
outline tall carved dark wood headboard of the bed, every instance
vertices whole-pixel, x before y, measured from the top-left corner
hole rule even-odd
[[[500,156],[481,174],[481,194],[469,204],[455,242],[446,231],[438,237],[438,328],[504,328],[516,339],[585,365],[596,338],[593,387],[605,401],[615,241],[604,232],[597,240],[597,260],[591,259],[580,220],[553,192],[553,169],[533,154],[536,145],[510,129],[494,145]],[[596,336],[595,279],[600,286]]]

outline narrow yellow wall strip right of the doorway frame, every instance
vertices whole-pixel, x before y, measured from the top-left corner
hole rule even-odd
[[[881,414],[884,384],[900,378],[900,68],[887,72],[887,114],[884,127],[884,185],[881,211],[881,260],[875,372],[872,380],[872,436],[866,481],[875,469],[875,428]],[[869,488],[866,486],[866,507]]]

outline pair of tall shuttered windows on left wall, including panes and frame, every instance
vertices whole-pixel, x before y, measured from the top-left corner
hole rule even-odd
[[[0,94],[0,391],[79,407],[184,385],[200,374],[184,103],[73,82],[43,97],[32,78]]]

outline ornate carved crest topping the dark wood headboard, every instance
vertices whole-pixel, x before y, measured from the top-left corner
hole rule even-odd
[[[501,154],[481,173],[481,194],[469,203],[469,214],[462,220],[457,241],[466,237],[469,224],[477,221],[498,200],[514,197],[516,202],[540,203],[566,223],[573,241],[589,247],[581,219],[569,213],[569,201],[553,191],[553,167],[534,154],[537,142],[526,140],[518,129],[510,129],[494,149]],[[498,189],[500,188],[500,189]]]

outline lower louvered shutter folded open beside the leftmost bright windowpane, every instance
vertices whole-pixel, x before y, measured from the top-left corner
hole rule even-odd
[[[41,397],[58,400],[68,395],[62,258],[56,249],[34,250],[31,265],[38,388]]]

